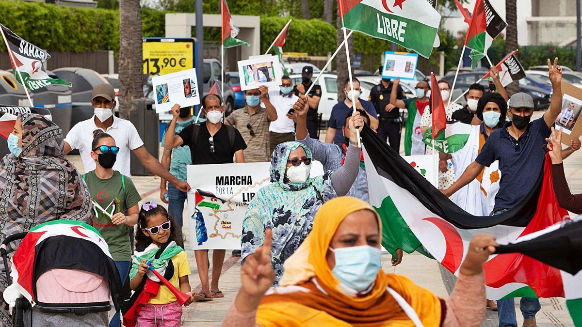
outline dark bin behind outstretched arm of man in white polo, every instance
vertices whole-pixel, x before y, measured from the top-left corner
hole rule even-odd
[[[133,110],[130,111],[129,120],[136,126],[137,133],[141,140],[144,141],[145,149],[150,152],[154,158],[159,158],[159,118],[155,112],[154,100],[149,98],[140,98],[133,100]],[[139,158],[132,152],[132,162],[130,172],[137,176],[151,176],[149,170],[141,164]]]

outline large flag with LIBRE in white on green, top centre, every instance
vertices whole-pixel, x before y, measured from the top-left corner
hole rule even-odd
[[[342,26],[414,50],[428,58],[438,47],[441,15],[427,0],[339,0]]]

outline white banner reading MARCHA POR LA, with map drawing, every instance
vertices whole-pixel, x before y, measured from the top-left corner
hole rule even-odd
[[[320,162],[311,176],[323,175]],[[258,190],[271,184],[270,162],[188,165],[192,250],[240,249],[244,214]]]

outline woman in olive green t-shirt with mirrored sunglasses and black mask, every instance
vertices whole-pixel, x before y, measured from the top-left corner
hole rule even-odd
[[[107,242],[120,278],[125,282],[132,261],[129,227],[137,223],[141,197],[129,177],[112,169],[119,148],[111,135],[95,130],[91,150],[95,170],[83,175],[83,179],[93,202],[93,226]],[[115,314],[109,326],[120,325],[119,314]]]

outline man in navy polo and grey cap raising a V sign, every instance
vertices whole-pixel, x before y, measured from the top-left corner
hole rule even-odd
[[[463,175],[449,189],[442,190],[442,193],[451,196],[474,180],[484,166],[489,166],[496,160],[499,161],[502,175],[491,215],[498,215],[515,207],[530,192],[538,173],[544,167],[545,139],[551,134],[550,127],[562,107],[562,67],[558,66],[558,58],[554,59],[553,65],[548,59],[548,75],[553,94],[544,116],[530,122],[534,113],[533,99],[526,93],[514,94],[508,104],[512,121],[491,133],[475,161],[467,166]],[[497,306],[499,326],[517,326],[513,298],[499,300]],[[535,326],[535,314],[541,309],[540,300],[521,298],[520,308],[524,326]]]

